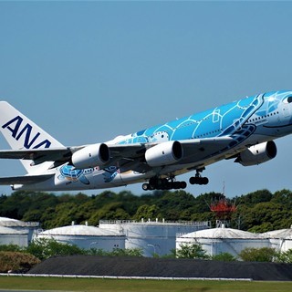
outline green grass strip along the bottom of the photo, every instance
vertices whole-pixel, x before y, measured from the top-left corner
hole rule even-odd
[[[120,280],[0,276],[0,289],[100,292],[292,291],[292,282]]]

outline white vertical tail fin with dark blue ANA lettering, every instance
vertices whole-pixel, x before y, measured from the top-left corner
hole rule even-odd
[[[63,146],[6,101],[0,101],[0,130],[13,150]],[[21,162],[27,172],[33,171],[31,161],[23,160]]]

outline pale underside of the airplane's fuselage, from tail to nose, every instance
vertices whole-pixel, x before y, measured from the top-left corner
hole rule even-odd
[[[93,189],[105,189],[112,187],[125,186],[131,183],[144,183],[148,181],[153,176],[160,177],[175,177],[177,175],[186,173],[186,172],[194,172],[197,169],[203,169],[205,166],[210,165],[214,162],[222,161],[226,158],[230,158],[235,154],[244,151],[246,147],[251,145],[255,145],[257,143],[265,142],[265,141],[273,141],[277,138],[287,135],[287,133],[292,132],[292,125],[287,125],[285,127],[279,128],[271,128],[266,129],[261,127],[261,125],[257,125],[257,129],[249,138],[240,144],[236,145],[234,148],[229,149],[228,151],[214,153],[214,155],[210,157],[206,157],[203,160],[196,161],[195,157],[193,161],[188,163],[180,164],[179,162],[153,168],[151,172],[116,172],[112,171],[104,171],[94,169],[94,170],[83,170],[78,174],[78,177],[66,177],[61,175],[60,168],[50,170],[47,173],[55,173],[55,176],[51,179],[42,182],[42,183],[33,183],[33,184],[25,184],[25,185],[14,185],[13,189],[21,189],[21,190],[29,190],[29,191],[70,191],[70,190],[93,190]],[[115,167],[113,167],[115,168]]]

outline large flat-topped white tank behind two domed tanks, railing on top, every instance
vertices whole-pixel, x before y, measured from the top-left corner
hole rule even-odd
[[[126,235],[126,248],[141,248],[144,256],[170,255],[177,235],[209,227],[209,222],[99,221],[99,228]]]

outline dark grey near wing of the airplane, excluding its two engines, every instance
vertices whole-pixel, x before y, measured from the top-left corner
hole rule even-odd
[[[193,139],[179,141],[183,147],[183,159],[179,164],[198,162],[206,157],[224,151],[234,140],[230,137],[214,137],[205,139]],[[110,150],[109,165],[117,164],[122,172],[134,170],[136,172],[146,172],[151,169],[144,160],[147,149],[156,146],[154,143],[133,143],[133,144],[109,144]],[[20,159],[32,160],[35,165],[42,162],[54,162],[54,167],[70,162],[72,154],[87,147],[60,147],[32,150],[8,150],[0,151],[0,159]]]

